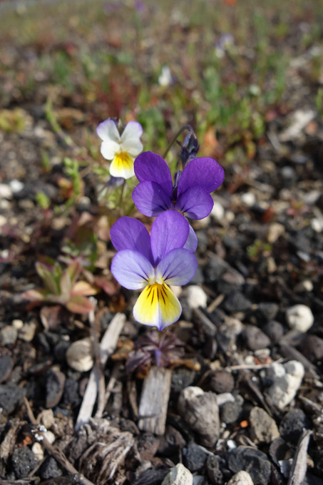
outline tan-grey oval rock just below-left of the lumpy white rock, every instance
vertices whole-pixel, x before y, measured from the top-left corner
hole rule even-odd
[[[255,406],[250,412],[250,427],[255,443],[271,443],[280,436],[275,420],[261,407]]]

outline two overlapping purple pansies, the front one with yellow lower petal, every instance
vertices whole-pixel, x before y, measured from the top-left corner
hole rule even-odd
[[[190,160],[190,158],[188,158]],[[139,220],[123,217],[111,228],[118,251],[111,272],[129,290],[142,290],[133,316],[138,322],[163,330],[176,322],[182,308],[171,286],[186,285],[195,275],[198,240],[186,220],[210,214],[210,193],[220,187],[223,168],[212,158],[194,158],[173,182],[167,163],[152,152],[134,163],[139,184],[133,190],[136,208],[155,218],[149,235]]]

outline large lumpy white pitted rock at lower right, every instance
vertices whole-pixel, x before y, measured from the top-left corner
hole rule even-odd
[[[286,364],[274,362],[267,369],[267,376],[273,381],[268,389],[270,399],[279,409],[284,409],[292,402],[304,377],[304,366],[297,360]]]

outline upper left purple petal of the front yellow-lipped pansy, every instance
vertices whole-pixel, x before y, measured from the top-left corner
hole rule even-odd
[[[140,252],[148,261],[153,262],[150,235],[140,220],[127,217],[118,219],[110,230],[110,237],[117,251],[132,249]]]

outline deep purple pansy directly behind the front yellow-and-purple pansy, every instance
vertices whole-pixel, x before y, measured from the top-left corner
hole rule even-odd
[[[210,193],[220,187],[225,172],[212,158],[195,158],[175,175],[165,160],[153,152],[141,153],[135,159],[135,175],[139,184],[133,190],[135,207],[143,215],[155,216],[164,210],[177,210],[191,219],[210,214],[213,199]]]

